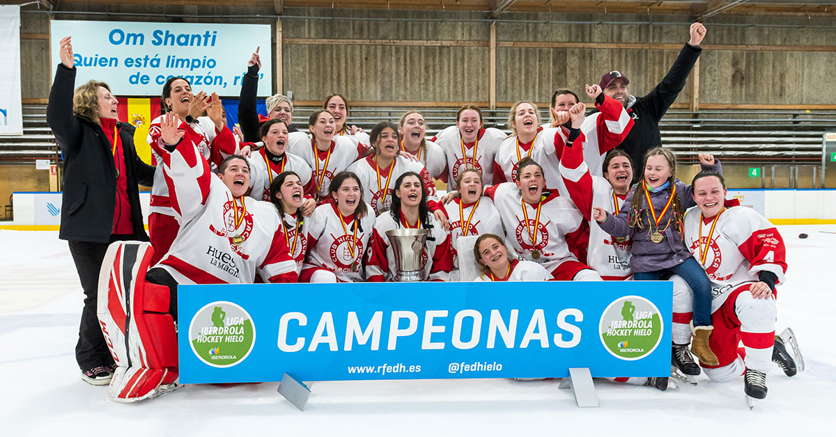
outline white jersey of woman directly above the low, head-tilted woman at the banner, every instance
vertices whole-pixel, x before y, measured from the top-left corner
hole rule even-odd
[[[584,258],[584,234],[588,232],[588,226],[580,211],[557,191],[548,195],[543,193],[539,221],[538,205],[523,202],[517,185],[506,182],[489,186],[485,194],[497,206],[507,232],[507,241],[521,260],[537,262],[554,274],[563,262],[578,261],[576,254],[580,253],[581,259]],[[537,259],[533,256],[535,252]]]

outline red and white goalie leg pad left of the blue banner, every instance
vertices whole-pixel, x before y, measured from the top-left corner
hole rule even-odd
[[[153,252],[146,242],[115,242],[99,275],[99,324],[117,365],[108,394],[118,402],[161,394],[177,379],[169,291],[145,282]]]

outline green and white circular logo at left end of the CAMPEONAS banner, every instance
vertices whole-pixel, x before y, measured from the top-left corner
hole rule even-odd
[[[212,367],[232,367],[252,351],[256,328],[252,318],[232,302],[212,302],[191,318],[189,341],[197,358]]]

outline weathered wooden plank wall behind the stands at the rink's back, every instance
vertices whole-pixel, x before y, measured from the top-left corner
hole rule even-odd
[[[94,10],[85,3],[64,3],[61,8]],[[192,6],[115,4],[106,9],[123,13],[273,14],[270,8],[247,6],[198,10]],[[297,100],[318,102],[335,91],[354,101],[456,104],[489,100],[491,23],[480,21],[485,18],[483,13],[284,8],[284,14],[289,18],[281,21],[281,88],[292,90]],[[438,21],[441,18],[445,21]],[[150,20],[74,14],[60,14],[56,19]],[[630,78],[631,92],[645,94],[665,75],[688,39],[683,16],[654,15],[652,24],[647,24],[649,17],[641,14],[558,11],[505,13],[502,19],[517,23],[496,23],[496,100],[500,105],[517,99],[547,101],[553,90],[561,87],[582,91],[584,84],[597,83],[601,74],[611,69],[619,69]],[[44,39],[48,21],[46,14],[23,13],[24,99],[48,95],[50,48]],[[182,21],[275,26],[275,19],[269,17]],[[581,23],[562,23],[568,21]],[[784,27],[712,25],[717,22]],[[829,72],[836,57],[836,19],[721,16],[709,19],[706,25],[700,104],[824,104],[836,108],[833,93],[826,92],[833,82]],[[686,88],[677,103],[686,105],[689,92]]]

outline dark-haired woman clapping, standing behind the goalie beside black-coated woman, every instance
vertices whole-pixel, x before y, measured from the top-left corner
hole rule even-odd
[[[241,153],[232,130],[223,123],[223,106],[217,94],[212,98],[203,91],[192,94],[191,84],[186,79],[174,77],[168,79],[162,87],[160,104],[163,114],[174,113],[179,120],[179,129],[185,135],[181,141],[195,145],[203,160],[210,164],[212,170],[217,169],[227,156]],[[206,116],[202,114],[206,112]],[[148,144],[151,151],[155,150],[160,140],[161,121],[165,115],[160,115],[151,121],[148,128]],[[154,153],[155,162],[161,161],[161,156]],[[148,215],[148,230],[150,231],[151,246],[154,247],[152,262],[158,262],[171,248],[171,243],[180,229],[180,216],[176,213],[169,197],[168,185],[164,173],[164,166],[157,165],[154,175],[154,185],[151,186],[150,214]]]

